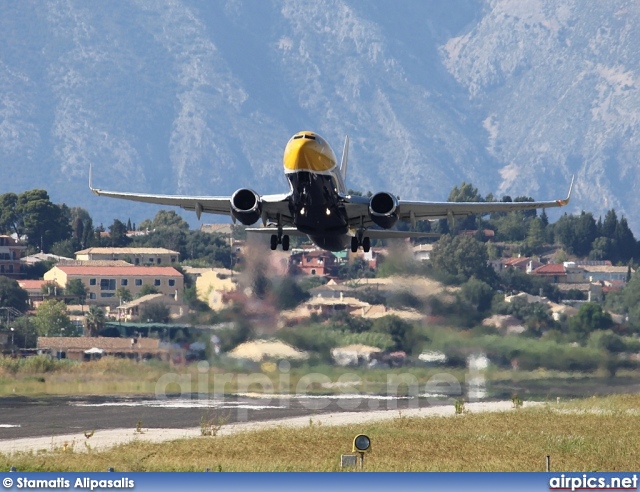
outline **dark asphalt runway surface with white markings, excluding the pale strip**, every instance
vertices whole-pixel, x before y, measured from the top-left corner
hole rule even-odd
[[[442,404],[442,403],[441,403]],[[449,403],[450,406],[452,406]],[[224,396],[213,399],[150,397],[8,397],[0,398],[0,449],[2,440],[55,436],[98,429],[129,428],[138,422],[147,429],[193,428],[205,418],[223,417],[228,423],[313,417],[326,413],[395,410],[431,406],[425,399],[386,397],[251,398]],[[452,406],[453,408],[453,406]]]

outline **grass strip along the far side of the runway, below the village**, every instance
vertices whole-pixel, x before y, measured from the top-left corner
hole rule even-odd
[[[19,360],[18,360],[19,361]],[[349,387],[335,388],[324,383],[357,381],[353,391],[369,394],[404,395],[407,382],[418,384],[423,393],[431,378],[443,373],[455,377],[462,385],[468,376],[461,368],[402,367],[393,369],[341,368],[330,365],[293,366],[281,372],[275,364],[271,368],[253,364],[241,366],[221,361],[212,366],[171,367],[167,363],[135,361],[105,357],[98,361],[74,363],[24,359],[21,362],[0,358],[1,396],[41,395],[154,395],[191,392],[255,392],[255,393],[312,393],[349,392]],[[270,370],[269,370],[270,369]],[[491,367],[484,371],[489,396],[510,398],[519,392],[528,399],[553,400],[555,395],[587,395],[604,393],[617,387],[622,392],[636,384],[639,372],[621,370],[616,378],[605,377],[602,371],[592,373],[563,372],[538,369],[511,371]],[[182,380],[180,386],[176,382]],[[404,381],[405,384],[397,384]],[[397,389],[396,389],[397,388]],[[453,395],[456,396],[456,395]]]

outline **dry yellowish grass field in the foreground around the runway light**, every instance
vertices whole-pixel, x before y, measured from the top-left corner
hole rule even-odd
[[[105,452],[54,450],[0,455],[20,471],[338,471],[354,435],[372,439],[370,471],[620,471],[640,461],[639,396],[455,417],[406,418],[278,428],[162,444],[134,442]],[[99,431],[96,431],[98,433]],[[310,443],[314,443],[313,445]]]

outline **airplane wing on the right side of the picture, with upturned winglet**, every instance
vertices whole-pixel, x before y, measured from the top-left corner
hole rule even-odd
[[[411,222],[432,219],[453,219],[471,214],[485,215],[494,212],[514,212],[538,208],[564,207],[569,204],[573,178],[567,198],[546,202],[417,202],[398,200],[397,213],[400,220]],[[369,217],[369,199],[364,197],[345,197],[345,209],[349,224],[354,227],[373,225]],[[367,234],[370,230],[367,230]]]

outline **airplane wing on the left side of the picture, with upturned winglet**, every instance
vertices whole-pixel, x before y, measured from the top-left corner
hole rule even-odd
[[[98,196],[120,198],[135,202],[154,203],[156,205],[170,205],[194,211],[200,219],[203,212],[217,215],[231,215],[231,197],[227,196],[189,196],[189,195],[154,195],[146,193],[129,193],[121,191],[106,191],[94,188],[91,185],[91,173],[89,176],[89,189]],[[282,224],[292,224],[293,217],[289,211],[289,194],[261,195],[262,220],[278,219],[280,215]],[[232,216],[233,217],[233,216]]]

